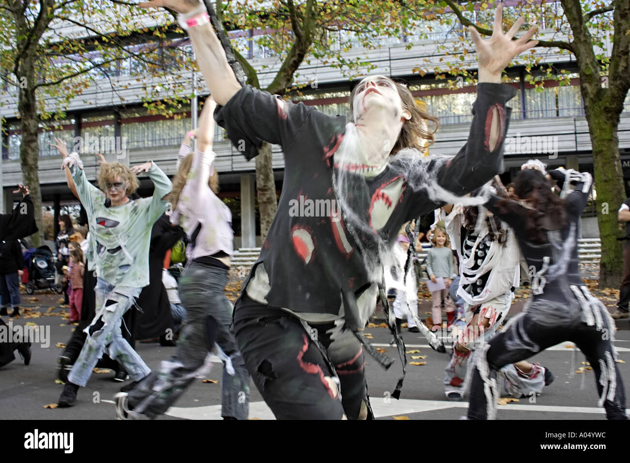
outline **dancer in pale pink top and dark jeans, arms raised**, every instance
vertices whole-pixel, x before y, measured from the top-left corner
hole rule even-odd
[[[159,370],[135,384],[129,393],[116,394],[120,419],[137,418],[139,414],[156,418],[166,412],[195,378],[205,374],[204,360],[215,343],[224,361],[221,416],[226,420],[248,418],[249,373],[230,331],[232,305],[224,292],[234,234],[230,210],[217,197],[219,175],[212,152],[215,106],[211,98],[203,105],[195,152],[186,143],[190,142],[186,135],[180,148],[181,164],[168,197],[174,209],[171,222],[181,225],[189,240],[188,265],[180,278],[186,324],[176,355],[164,360]]]

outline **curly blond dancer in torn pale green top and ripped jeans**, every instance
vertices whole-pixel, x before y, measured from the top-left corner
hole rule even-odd
[[[88,384],[92,370],[107,348],[113,360],[122,363],[130,377],[139,381],[151,369],[122,337],[120,319],[130,309],[142,287],[149,284],[151,228],[164,214],[171,181],[152,161],[129,169],[119,163],[103,163],[98,173],[100,190],[89,183],[83,163],[72,152],[62,163],[71,169],[79,200],[88,214],[90,248],[96,274],[96,316],[85,329],[88,337],[68,374],[59,397],[60,407],[76,402],[80,386]],[[130,200],[137,190],[136,174],[146,172],[155,185],[152,197]],[[106,207],[109,200],[109,207]]]

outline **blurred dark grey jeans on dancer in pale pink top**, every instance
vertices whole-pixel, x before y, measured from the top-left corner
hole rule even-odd
[[[217,343],[225,353],[221,415],[246,420],[249,373],[230,331],[232,304],[224,293],[227,270],[193,262],[179,283],[186,324],[180,333],[177,353],[134,387],[129,393],[129,406],[149,418],[166,412],[195,378],[205,375],[207,353]]]

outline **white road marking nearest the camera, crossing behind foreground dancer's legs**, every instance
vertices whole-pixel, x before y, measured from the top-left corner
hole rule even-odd
[[[422,413],[425,411],[449,409],[449,408],[468,408],[467,402],[450,402],[435,400],[413,400],[413,399],[390,399],[388,403],[379,398],[372,397],[370,401],[372,411],[377,418],[384,416]],[[500,411],[539,411],[539,412],[560,412],[560,413],[605,413],[603,408],[597,407],[564,407],[554,405],[534,405],[534,404],[507,404],[498,407]],[[630,410],[627,410],[630,413]],[[221,405],[209,405],[203,407],[180,408],[171,407],[166,412],[169,416],[176,418],[185,418],[186,420],[221,420]],[[462,411],[462,414],[466,414]],[[271,409],[264,402],[252,402],[249,404],[249,418],[258,418],[260,420],[275,420]]]

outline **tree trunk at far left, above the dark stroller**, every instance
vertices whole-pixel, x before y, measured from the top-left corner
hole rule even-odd
[[[42,222],[42,191],[39,181],[39,141],[37,139],[39,119],[37,117],[37,99],[35,96],[35,72],[32,63],[25,60],[21,68],[20,77],[26,77],[26,86],[20,86],[18,108],[21,117],[22,139],[20,143],[20,161],[22,164],[22,179],[28,186],[35,208],[35,222],[38,232],[29,238],[31,246],[43,244]]]

